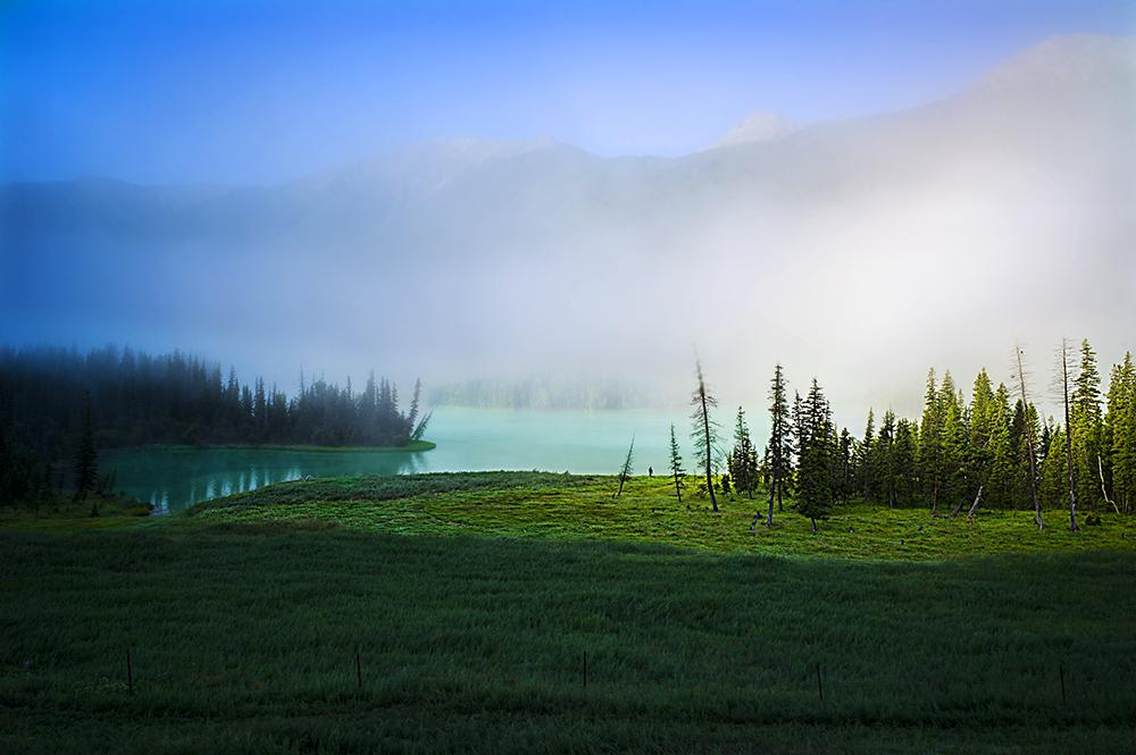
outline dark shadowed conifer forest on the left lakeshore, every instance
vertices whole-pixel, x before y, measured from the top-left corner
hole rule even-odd
[[[371,374],[364,388],[307,380],[287,395],[262,378],[241,383],[219,364],[179,352],[151,355],[107,346],[0,347],[0,500],[43,495],[90,476],[84,437],[99,448],[172,444],[401,446],[419,439],[416,381],[409,409]],[[67,469],[65,462],[72,461]],[[82,487],[82,486],[80,486]]]

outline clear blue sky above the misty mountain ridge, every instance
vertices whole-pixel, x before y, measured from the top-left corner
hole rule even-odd
[[[0,179],[268,183],[408,142],[680,154],[918,104],[1136,3],[0,2]]]

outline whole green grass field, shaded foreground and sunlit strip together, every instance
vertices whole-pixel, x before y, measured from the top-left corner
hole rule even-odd
[[[9,518],[0,750],[1136,744],[1128,518],[1072,535],[1052,511],[1037,534],[1025,512],[852,506],[751,535],[749,501],[612,489],[344,478],[97,530]]]

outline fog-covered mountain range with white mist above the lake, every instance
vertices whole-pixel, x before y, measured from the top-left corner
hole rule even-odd
[[[266,185],[9,183],[0,316],[15,343],[192,346],[289,387],[557,376],[674,405],[700,355],[738,401],[780,361],[843,423],[912,413],[928,367],[1008,379],[1016,342],[1042,374],[1061,334],[1119,359],[1134,49],[1053,37],[935,101],[759,114],[678,157],[450,139]]]

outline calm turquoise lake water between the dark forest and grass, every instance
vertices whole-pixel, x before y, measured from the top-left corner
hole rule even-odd
[[[278,451],[260,448],[124,448],[100,456],[115,470],[116,487],[166,513],[232,493],[306,476],[400,475],[437,471],[542,470],[615,473],[635,436],[635,470],[667,467],[669,425],[675,422],[687,467],[685,410],[535,411],[463,409],[434,411],[426,436],[432,451]]]

